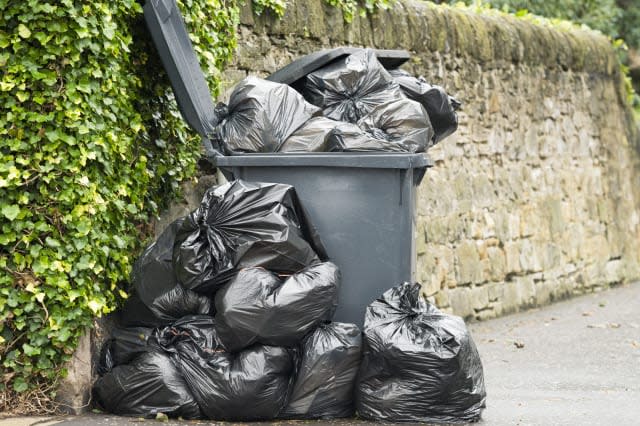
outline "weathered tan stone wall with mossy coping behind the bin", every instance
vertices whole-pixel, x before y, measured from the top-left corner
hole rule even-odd
[[[407,49],[464,103],[419,188],[417,278],[439,306],[483,319],[640,277],[638,135],[607,39],[416,1],[346,25],[296,1],[243,10],[226,87],[343,45]]]

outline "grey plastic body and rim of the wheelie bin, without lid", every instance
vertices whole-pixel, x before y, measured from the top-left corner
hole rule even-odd
[[[295,186],[342,272],[334,321],[362,325],[366,306],[415,274],[416,187],[423,154],[247,154],[218,157],[230,178]]]

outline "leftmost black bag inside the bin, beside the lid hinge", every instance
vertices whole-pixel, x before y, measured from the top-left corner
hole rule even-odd
[[[280,145],[320,110],[293,88],[247,77],[231,93],[228,110],[216,127],[216,138],[228,153],[276,152]]]

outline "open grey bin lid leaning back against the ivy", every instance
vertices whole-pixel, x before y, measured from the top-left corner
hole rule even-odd
[[[218,117],[178,5],[175,0],[147,0],[144,17],[182,117],[202,137],[207,154],[217,154],[209,135]]]

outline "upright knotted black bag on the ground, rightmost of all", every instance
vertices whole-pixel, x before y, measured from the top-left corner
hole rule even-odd
[[[367,308],[356,409],[366,419],[474,422],[486,392],[482,363],[464,321],[404,283]]]

